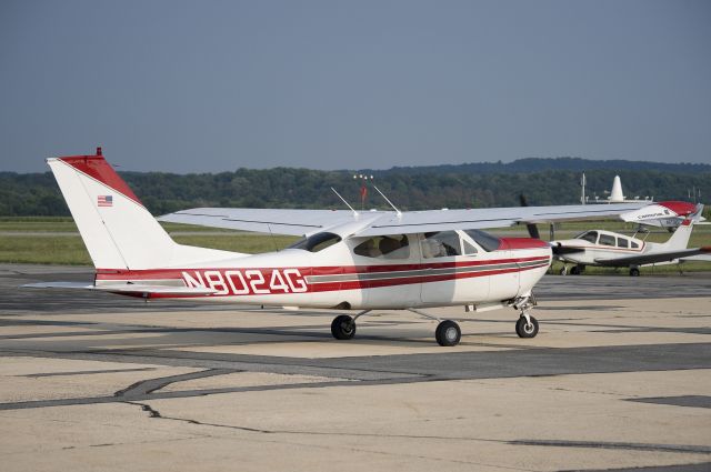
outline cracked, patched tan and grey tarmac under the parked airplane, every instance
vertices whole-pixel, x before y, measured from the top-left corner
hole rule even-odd
[[[2,470],[711,470],[711,275],[545,277],[440,348],[409,312],[18,289],[0,265]],[[640,469],[641,468],[641,469]]]

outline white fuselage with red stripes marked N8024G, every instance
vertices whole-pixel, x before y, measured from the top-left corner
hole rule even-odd
[[[424,234],[398,235],[407,247],[387,254],[362,249],[368,238],[347,238],[317,252],[286,249],[209,267],[97,269],[96,283],[206,288],[214,293],[189,297],[258,305],[408,309],[513,300],[529,294],[551,262],[540,241],[518,240],[531,242],[525,247],[503,239],[504,249],[487,251],[467,234],[451,233],[460,238],[460,254],[427,253]]]

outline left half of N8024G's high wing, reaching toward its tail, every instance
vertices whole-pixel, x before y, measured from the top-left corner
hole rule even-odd
[[[159,217],[158,221],[263,233],[304,235],[357,220],[354,213],[350,210],[193,208],[164,214]]]

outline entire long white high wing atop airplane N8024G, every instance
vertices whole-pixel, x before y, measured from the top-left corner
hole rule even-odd
[[[644,202],[468,210],[364,211],[196,208],[159,217],[159,221],[277,234],[312,234],[360,222],[358,235],[383,235],[460,229],[507,228],[527,223],[599,220],[638,210]]]

